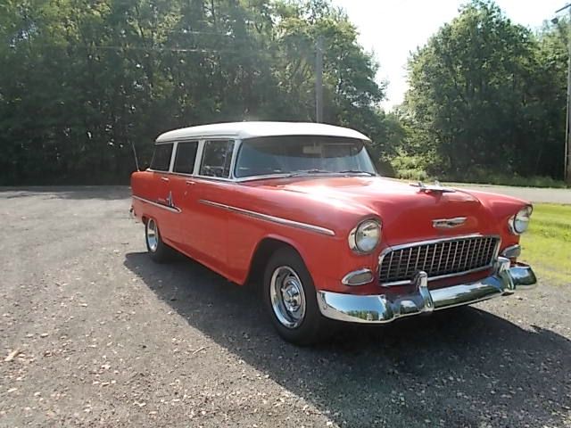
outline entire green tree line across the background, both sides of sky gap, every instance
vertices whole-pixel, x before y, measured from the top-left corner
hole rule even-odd
[[[473,0],[411,55],[386,113],[329,0],[3,0],[0,185],[125,183],[165,130],[312,120],[318,37],[324,119],[368,134],[382,173],[559,178],[567,24],[534,33]]]

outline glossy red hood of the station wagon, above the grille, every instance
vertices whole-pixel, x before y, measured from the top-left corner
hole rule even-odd
[[[489,204],[459,189],[425,192],[417,185],[382,177],[295,178],[277,180],[271,186],[288,193],[302,193],[313,200],[335,202],[336,207],[359,210],[363,218],[378,216],[388,242],[498,234],[499,219],[494,218]],[[335,216],[335,210],[331,215]],[[434,220],[451,218],[466,220],[452,227],[434,227]]]

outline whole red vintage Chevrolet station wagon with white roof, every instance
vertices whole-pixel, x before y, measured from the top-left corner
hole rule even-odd
[[[381,324],[536,283],[517,261],[528,202],[379,177],[368,137],[314,123],[241,122],[159,136],[131,177],[155,261],[180,251],[261,284],[277,332]]]

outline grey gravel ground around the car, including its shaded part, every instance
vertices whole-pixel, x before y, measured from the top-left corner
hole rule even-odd
[[[0,426],[571,426],[568,285],[296,348],[128,189],[0,193]]]

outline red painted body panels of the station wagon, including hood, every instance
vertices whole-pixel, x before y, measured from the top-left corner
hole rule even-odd
[[[164,177],[169,180],[165,181]],[[501,250],[518,243],[508,219],[527,202],[492,193],[423,193],[418,187],[381,177],[294,177],[233,182],[153,171],[131,177],[133,194],[171,212],[133,200],[137,218],[155,218],[165,243],[237,284],[244,284],[252,256],[264,238],[292,245],[302,256],[318,289],[378,293],[378,284],[348,287],[341,278],[352,270],[377,271],[378,256],[389,245],[455,235],[500,235]],[[201,203],[218,202],[278,218],[333,230],[335,236],[284,226]],[[353,253],[347,236],[363,218],[380,218],[382,241],[366,256]],[[435,229],[435,218],[467,217],[451,229]],[[456,277],[432,286],[459,284],[489,272]]]

